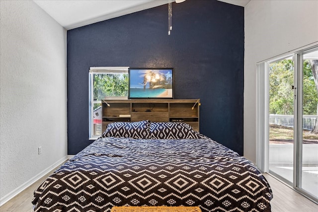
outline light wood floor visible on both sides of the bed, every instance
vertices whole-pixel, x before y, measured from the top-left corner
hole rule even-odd
[[[0,212],[32,212],[33,192],[51,173],[1,206]],[[268,180],[274,194],[274,198],[271,201],[272,212],[318,212],[318,205],[272,176],[266,173],[264,176]]]

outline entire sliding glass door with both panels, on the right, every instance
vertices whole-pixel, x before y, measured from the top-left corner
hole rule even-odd
[[[318,47],[266,64],[269,141],[265,141],[265,167],[317,202]]]

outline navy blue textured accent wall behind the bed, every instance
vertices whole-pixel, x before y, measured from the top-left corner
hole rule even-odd
[[[68,31],[68,154],[88,140],[89,67],[174,68],[176,99],[201,99],[200,132],[243,154],[244,8],[172,3]]]

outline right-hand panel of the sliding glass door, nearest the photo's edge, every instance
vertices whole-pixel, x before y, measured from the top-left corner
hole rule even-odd
[[[318,50],[299,54],[298,173],[296,186],[318,198]]]

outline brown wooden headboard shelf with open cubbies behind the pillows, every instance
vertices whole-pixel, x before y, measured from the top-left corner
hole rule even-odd
[[[199,99],[102,100],[102,131],[111,122],[150,120],[185,122],[199,132],[199,105]]]

